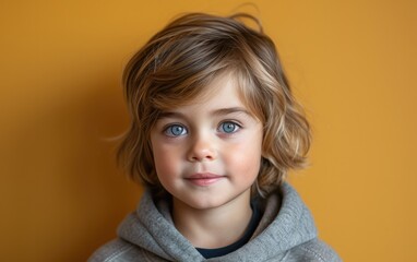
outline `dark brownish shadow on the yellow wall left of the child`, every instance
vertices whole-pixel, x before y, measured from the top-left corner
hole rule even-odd
[[[141,190],[116,168],[116,143],[106,141],[128,126],[118,86],[48,98],[12,124],[5,261],[85,261],[134,209]]]

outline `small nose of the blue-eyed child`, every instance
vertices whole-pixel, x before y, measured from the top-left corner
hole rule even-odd
[[[217,158],[215,141],[208,134],[196,135],[190,143],[188,152],[190,162],[210,162]]]

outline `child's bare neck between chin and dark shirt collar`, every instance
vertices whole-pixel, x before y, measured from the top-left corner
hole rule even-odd
[[[251,216],[249,192],[222,206],[204,210],[174,198],[176,228],[198,248],[214,249],[236,242],[243,236]]]

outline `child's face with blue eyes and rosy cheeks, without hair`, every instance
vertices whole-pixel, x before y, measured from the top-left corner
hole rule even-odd
[[[262,123],[228,74],[204,98],[163,114],[151,132],[155,168],[174,202],[193,209],[249,205],[261,165]]]

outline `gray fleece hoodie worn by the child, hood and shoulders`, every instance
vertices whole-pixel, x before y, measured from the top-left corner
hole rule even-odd
[[[88,261],[341,261],[318,239],[309,210],[288,183],[262,205],[261,222],[248,243],[206,260],[175,228],[168,203],[155,204],[145,192],[136,212],[120,224],[118,238],[99,248]]]

